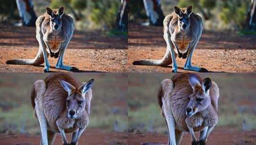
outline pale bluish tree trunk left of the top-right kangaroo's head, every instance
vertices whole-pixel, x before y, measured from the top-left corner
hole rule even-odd
[[[161,8],[161,0],[143,0],[143,2],[150,24],[163,26],[165,16]]]

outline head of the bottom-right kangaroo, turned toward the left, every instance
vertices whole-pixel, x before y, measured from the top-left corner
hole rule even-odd
[[[202,83],[200,83],[199,79],[194,74],[190,74],[189,83],[193,89],[193,93],[189,95],[190,100],[186,114],[187,116],[192,116],[211,105],[211,97],[209,94],[211,79],[205,78]]]

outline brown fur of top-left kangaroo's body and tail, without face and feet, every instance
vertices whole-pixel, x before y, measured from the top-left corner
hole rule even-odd
[[[58,9],[55,9],[54,12],[56,13]],[[61,17],[62,27],[59,31],[55,32],[58,33],[54,35],[52,32],[52,28],[50,27],[50,16],[45,12],[43,15],[39,16],[35,22],[36,25],[36,40],[39,43],[39,50],[37,55],[34,59],[12,59],[8,60],[7,64],[23,64],[23,65],[40,65],[45,62],[44,60],[44,51],[46,57],[48,58],[49,53],[56,52],[55,58],[57,58],[58,54],[60,53],[61,49],[66,49],[60,47],[61,43],[69,42],[73,30],[74,30],[74,21],[70,15],[63,14]],[[47,49],[45,45],[45,41],[48,41],[50,44],[50,50]],[[64,50],[65,51],[65,50]]]

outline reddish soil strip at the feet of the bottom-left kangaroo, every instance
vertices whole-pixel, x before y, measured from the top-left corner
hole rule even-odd
[[[70,135],[67,135],[70,140]],[[128,145],[126,133],[102,133],[99,129],[85,130],[79,139],[79,145]],[[39,145],[39,135],[0,135],[1,145]],[[57,135],[54,145],[62,145]]]

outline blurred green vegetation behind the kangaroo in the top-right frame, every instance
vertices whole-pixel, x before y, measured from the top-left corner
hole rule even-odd
[[[233,30],[245,32],[245,20],[251,0],[161,0],[161,7],[166,16],[173,12],[173,7],[193,6],[204,21],[204,29],[211,31]],[[131,0],[129,21],[147,19],[143,0]],[[247,31],[248,32],[248,31]],[[250,31],[252,34],[256,34]],[[250,34],[249,32],[249,34]]]

